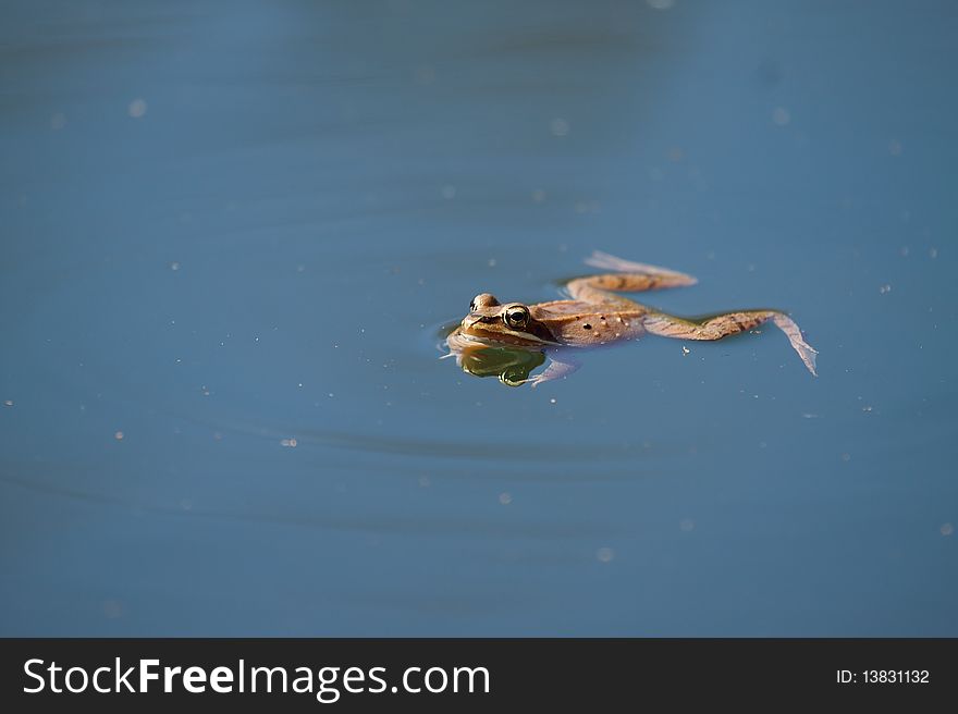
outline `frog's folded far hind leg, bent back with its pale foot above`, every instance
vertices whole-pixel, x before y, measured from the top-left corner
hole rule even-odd
[[[586,264],[614,272],[577,278],[566,285],[573,299],[586,303],[631,303],[631,300],[614,295],[614,293],[640,293],[666,287],[695,285],[698,281],[691,275],[616,258],[607,253],[593,253]]]

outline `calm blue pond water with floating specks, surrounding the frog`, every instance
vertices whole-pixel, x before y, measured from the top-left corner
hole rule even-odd
[[[0,17],[0,633],[958,635],[949,3]],[[820,377],[438,359],[593,249]]]

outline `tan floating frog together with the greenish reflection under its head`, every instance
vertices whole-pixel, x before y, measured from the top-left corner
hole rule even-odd
[[[578,368],[576,348],[634,340],[647,333],[677,340],[721,340],[771,321],[815,374],[815,349],[798,325],[778,310],[737,310],[702,318],[679,318],[617,293],[638,293],[693,285],[691,275],[594,253],[586,261],[611,272],[577,278],[566,285],[572,299],[524,305],[477,295],[459,327],[446,337],[450,356],[478,377],[496,374],[504,384],[532,386]],[[550,357],[546,368],[529,373]]]

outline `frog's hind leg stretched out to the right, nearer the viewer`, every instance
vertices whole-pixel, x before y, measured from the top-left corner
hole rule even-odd
[[[801,330],[790,317],[778,310],[742,310],[724,312],[702,320],[677,318],[664,312],[650,312],[643,318],[643,327],[651,334],[676,340],[721,340],[728,335],[752,330],[771,320],[791,343],[808,370],[818,377],[815,355],[818,350],[805,341]]]

